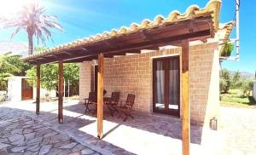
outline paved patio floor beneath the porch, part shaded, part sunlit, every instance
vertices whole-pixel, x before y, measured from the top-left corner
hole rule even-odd
[[[4,104],[0,109],[19,113],[37,120],[55,131],[72,137],[74,141],[102,154],[181,154],[181,122],[179,118],[134,113],[135,119],[125,123],[104,112],[103,139],[96,138],[96,116],[84,115],[84,105],[77,101],[64,104],[64,123],[57,123],[56,103],[42,103],[40,115],[36,115],[35,104],[30,102]],[[212,137],[218,138],[213,132]],[[221,154],[212,141],[202,145],[202,127],[191,125],[191,154]],[[214,149],[208,152],[209,148]]]

